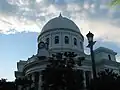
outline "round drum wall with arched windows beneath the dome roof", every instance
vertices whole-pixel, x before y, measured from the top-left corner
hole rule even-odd
[[[59,36],[59,43],[55,44],[55,36]],[[65,36],[69,37],[69,44],[65,44]],[[71,51],[75,53],[84,53],[83,37],[80,33],[65,30],[54,30],[45,32],[39,37],[38,43],[45,42],[49,38],[49,51],[52,52],[64,52]],[[77,45],[74,45],[74,38],[77,39]]]

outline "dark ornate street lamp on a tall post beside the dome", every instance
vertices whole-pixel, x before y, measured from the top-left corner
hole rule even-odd
[[[95,44],[96,41],[93,41],[94,34],[92,34],[90,31],[86,36],[88,39],[87,47],[90,48],[90,52],[91,52],[93,78],[95,79],[96,78],[96,65],[95,65],[95,59],[94,59],[93,45]]]

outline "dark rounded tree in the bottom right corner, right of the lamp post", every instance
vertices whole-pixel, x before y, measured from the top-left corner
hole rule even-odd
[[[98,73],[96,79],[92,79],[89,90],[120,90],[120,76],[113,70],[105,69]]]

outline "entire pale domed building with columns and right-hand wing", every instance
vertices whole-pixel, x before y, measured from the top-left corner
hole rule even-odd
[[[70,19],[61,14],[48,21],[42,28],[38,36],[38,52],[26,61],[17,63],[15,77],[27,77],[36,82],[36,90],[41,90],[41,71],[45,69],[48,57],[55,53],[74,52],[77,58],[85,57],[81,66],[76,65],[76,69],[83,71],[84,85],[92,78],[92,62],[90,55],[84,53],[84,37],[78,26]],[[94,50],[96,71],[113,69],[119,73],[119,63],[116,62],[117,53],[105,47]]]

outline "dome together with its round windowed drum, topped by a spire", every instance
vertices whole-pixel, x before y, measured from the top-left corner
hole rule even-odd
[[[72,51],[83,54],[84,37],[77,25],[68,18],[53,18],[47,22],[38,36],[38,43],[45,41],[49,44],[49,52]]]

